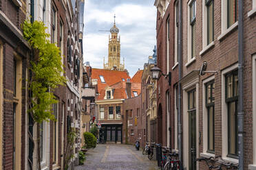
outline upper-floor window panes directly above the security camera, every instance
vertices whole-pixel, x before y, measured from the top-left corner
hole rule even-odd
[[[207,45],[213,42],[214,38],[214,8],[213,0],[205,0],[207,8]]]

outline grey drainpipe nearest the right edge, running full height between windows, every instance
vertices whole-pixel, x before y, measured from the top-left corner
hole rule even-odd
[[[238,0],[238,156],[244,169],[244,0]]]

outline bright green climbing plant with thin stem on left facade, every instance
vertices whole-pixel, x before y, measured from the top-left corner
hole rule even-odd
[[[56,44],[50,42],[50,34],[45,32],[44,23],[41,21],[26,20],[23,25],[23,38],[31,47],[31,59],[28,64],[30,80],[28,88],[30,96],[30,108],[28,112],[37,123],[37,135],[40,132],[42,121],[55,121],[52,114],[52,105],[58,103],[54,97],[54,89],[66,82],[63,76],[63,64],[61,62],[61,51]],[[40,140],[38,140],[37,155],[38,169],[40,165]]]

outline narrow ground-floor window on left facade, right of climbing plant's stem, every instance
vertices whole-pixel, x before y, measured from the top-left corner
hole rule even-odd
[[[56,121],[52,122],[52,160],[54,164],[57,162],[57,143],[58,143],[58,104],[53,104],[52,106],[53,114]]]

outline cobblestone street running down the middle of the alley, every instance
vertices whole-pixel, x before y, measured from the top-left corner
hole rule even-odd
[[[75,168],[81,169],[159,169],[156,160],[149,160],[142,155],[142,149],[137,151],[133,145],[97,145],[86,153],[85,165]]]

